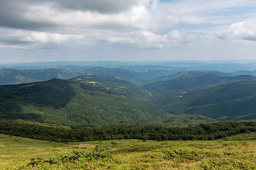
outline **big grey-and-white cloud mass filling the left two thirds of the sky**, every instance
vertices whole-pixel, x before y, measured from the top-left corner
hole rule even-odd
[[[3,4],[0,37],[4,37],[0,39],[0,47],[58,48],[76,43],[138,44],[145,41],[153,43],[152,46],[160,43],[157,46],[162,48],[160,38],[165,36],[154,31],[174,28],[180,24],[180,18],[168,10],[159,12],[159,3],[158,0],[124,0],[122,3],[76,0],[70,6],[67,0],[8,1],[0,4]]]

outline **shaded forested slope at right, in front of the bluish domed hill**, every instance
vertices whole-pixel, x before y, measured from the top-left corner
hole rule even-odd
[[[216,120],[256,119],[256,80],[158,93],[153,102],[169,113]]]

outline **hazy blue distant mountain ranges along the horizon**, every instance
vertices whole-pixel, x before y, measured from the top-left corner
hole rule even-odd
[[[233,75],[255,75],[255,65],[255,62],[242,64],[202,61],[96,61],[5,64],[0,65],[0,68],[2,68],[2,70],[0,70],[0,85],[47,81],[52,78],[70,79],[76,76],[87,75],[126,77],[135,79],[134,84],[142,85],[152,79],[175,74],[180,71],[221,71]]]

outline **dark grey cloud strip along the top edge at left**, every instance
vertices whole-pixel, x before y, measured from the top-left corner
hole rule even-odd
[[[17,13],[30,5],[49,4],[58,9],[97,11],[99,13],[116,13],[137,6],[145,0],[2,0],[0,8]],[[18,11],[17,11],[18,10]]]

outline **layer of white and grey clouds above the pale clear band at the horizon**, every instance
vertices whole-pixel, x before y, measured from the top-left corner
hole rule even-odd
[[[163,49],[196,43],[200,46],[203,41],[216,39],[255,41],[255,21],[246,20],[255,13],[241,12],[241,7],[253,8],[256,2],[0,1],[0,48],[48,49],[105,43]]]

